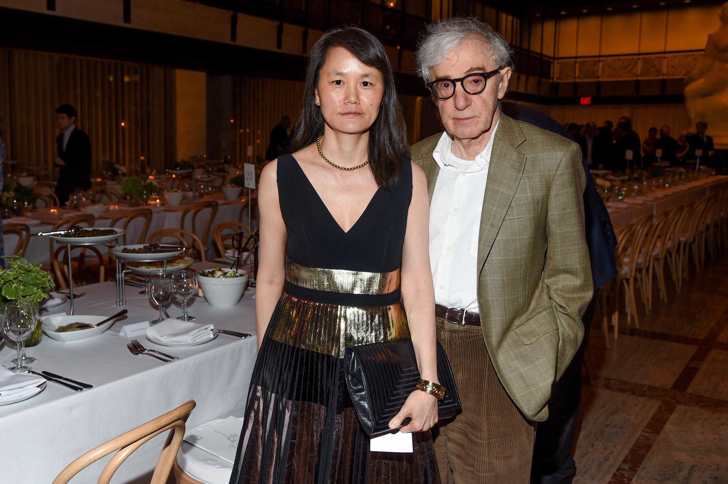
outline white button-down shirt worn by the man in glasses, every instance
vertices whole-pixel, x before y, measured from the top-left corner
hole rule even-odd
[[[478,237],[493,138],[475,161],[451,152],[443,132],[432,157],[440,166],[430,204],[430,268],[435,302],[448,308],[478,311]]]

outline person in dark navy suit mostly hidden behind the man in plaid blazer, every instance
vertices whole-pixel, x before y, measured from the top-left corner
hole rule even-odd
[[[503,112],[513,119],[534,124],[544,130],[571,139],[571,135],[561,124],[535,109],[509,102],[504,102],[502,108]],[[594,124],[594,128],[596,129],[596,124]],[[576,463],[571,457],[571,447],[574,444],[579,418],[584,350],[589,342],[589,330],[594,317],[598,289],[617,276],[617,262],[614,258],[614,245],[617,245],[617,238],[614,236],[612,221],[609,219],[604,202],[596,191],[584,159],[582,159],[582,165],[587,178],[587,186],[584,190],[584,226],[594,296],[582,317],[584,323],[582,344],[561,379],[552,386],[551,398],[548,402],[549,417],[546,421],[539,422],[534,445],[534,458],[531,463],[531,484],[571,483],[574,477]]]

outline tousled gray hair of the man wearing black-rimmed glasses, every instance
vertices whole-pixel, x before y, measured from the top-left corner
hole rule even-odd
[[[427,25],[417,46],[417,71],[430,82],[430,68],[447,59],[447,55],[470,38],[482,39],[491,50],[497,68],[513,68],[511,49],[503,36],[475,17],[450,17]],[[500,74],[498,74],[500,77]]]

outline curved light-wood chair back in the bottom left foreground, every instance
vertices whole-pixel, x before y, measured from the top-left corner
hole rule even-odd
[[[189,402],[180,405],[178,408],[84,453],[84,455],[71,462],[71,464],[68,464],[66,469],[63,469],[58,477],[53,480],[52,484],[67,484],[71,478],[90,466],[90,464],[108,456],[110,453],[118,451],[108,461],[106,467],[103,468],[97,481],[98,484],[108,484],[111,482],[111,477],[114,475],[114,472],[119,469],[128,456],[143,444],[149,442],[149,440],[157,437],[157,435],[169,431],[167,441],[162,447],[162,452],[159,453],[157,467],[154,467],[154,475],[151,476],[150,481],[150,484],[167,483],[177,452],[179,451],[180,445],[182,445],[187,418],[195,405],[194,400],[189,400]]]

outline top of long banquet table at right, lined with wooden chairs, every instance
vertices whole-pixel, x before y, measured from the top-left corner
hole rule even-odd
[[[612,220],[612,226],[614,226],[614,229],[619,229],[641,215],[657,215],[678,205],[695,203],[703,197],[728,188],[728,176],[720,175],[703,178],[702,180],[694,180],[684,186],[686,189],[655,199],[654,202],[632,205],[625,210],[615,210],[609,214],[609,218]]]

